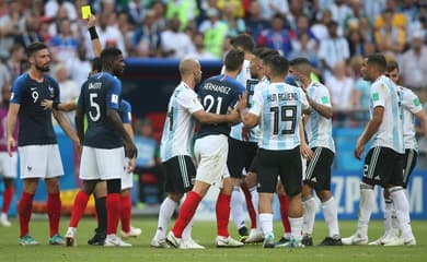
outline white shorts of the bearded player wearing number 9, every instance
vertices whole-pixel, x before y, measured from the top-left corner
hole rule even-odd
[[[64,175],[58,144],[24,145],[18,147],[20,153],[21,179],[54,178]]]

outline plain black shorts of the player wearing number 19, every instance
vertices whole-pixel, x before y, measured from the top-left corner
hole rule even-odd
[[[276,192],[277,176],[280,177],[288,195],[296,195],[301,192],[302,164],[299,146],[288,151],[259,148],[256,157],[258,192]]]

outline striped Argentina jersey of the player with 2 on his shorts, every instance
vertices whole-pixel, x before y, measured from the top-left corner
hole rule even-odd
[[[402,109],[397,86],[384,75],[371,85],[370,115],[378,106],[384,108],[382,122],[373,136],[372,147],[383,146],[397,153],[405,153],[403,146]]]

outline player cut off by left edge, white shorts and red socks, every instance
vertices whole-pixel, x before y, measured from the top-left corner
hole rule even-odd
[[[14,182],[16,178],[16,165],[18,165],[18,155],[13,154],[12,157],[9,157],[7,148],[7,139],[5,139],[5,121],[8,116],[8,108],[10,104],[10,83],[7,83],[1,88],[2,102],[0,104],[0,174],[3,177],[4,191],[3,191],[3,205],[1,207],[0,215],[0,226],[10,227],[12,224],[8,219],[8,213],[10,204],[12,203],[13,192],[14,192]],[[13,139],[18,139],[18,128],[13,132]],[[16,152],[16,146],[12,147],[12,152]]]

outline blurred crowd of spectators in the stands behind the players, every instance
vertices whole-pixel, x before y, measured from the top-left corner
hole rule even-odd
[[[308,57],[336,108],[366,108],[366,53],[401,66],[402,84],[427,90],[426,0],[0,0],[0,85],[25,70],[24,47],[44,40],[61,99],[77,96],[93,58],[83,4],[96,14],[104,47],[126,57],[221,59],[231,37],[249,33],[291,59]]]

